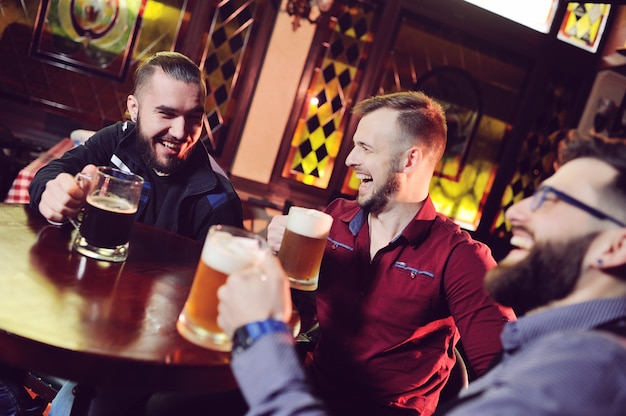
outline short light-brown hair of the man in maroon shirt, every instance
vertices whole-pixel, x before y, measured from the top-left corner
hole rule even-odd
[[[352,112],[364,116],[380,108],[398,111],[398,127],[405,140],[422,143],[434,162],[441,159],[448,131],[441,105],[423,92],[406,91],[370,97],[355,105]]]

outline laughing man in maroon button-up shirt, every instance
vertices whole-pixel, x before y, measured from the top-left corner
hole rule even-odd
[[[430,415],[461,339],[480,376],[515,319],[483,288],[489,249],[437,214],[428,196],[446,145],[442,108],[401,92],[355,106],[346,159],[361,180],[356,201],[326,209],[334,222],[317,290],[320,339],[308,370],[336,415]],[[285,217],[268,230],[274,250]]]

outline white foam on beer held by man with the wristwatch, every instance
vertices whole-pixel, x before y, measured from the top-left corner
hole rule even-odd
[[[258,240],[215,231],[204,243],[202,261],[215,270],[231,274],[258,264],[267,252]]]

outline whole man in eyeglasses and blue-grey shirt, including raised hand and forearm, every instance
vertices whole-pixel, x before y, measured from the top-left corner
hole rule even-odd
[[[504,327],[502,358],[438,414],[625,414],[626,145],[580,141],[568,152],[507,211],[515,248],[485,278],[494,300],[521,316]],[[219,291],[218,322],[235,339],[250,322],[289,318],[284,273],[273,259],[264,268],[265,281],[235,274]],[[326,414],[292,344],[285,326],[237,350],[249,415]]]

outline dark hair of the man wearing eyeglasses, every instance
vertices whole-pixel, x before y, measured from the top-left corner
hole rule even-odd
[[[608,163],[615,170],[615,180],[607,187],[607,191],[615,193],[626,201],[626,141],[592,136],[576,137],[568,143],[563,152],[563,163],[581,157],[599,159]],[[593,174],[590,172],[590,174]]]

